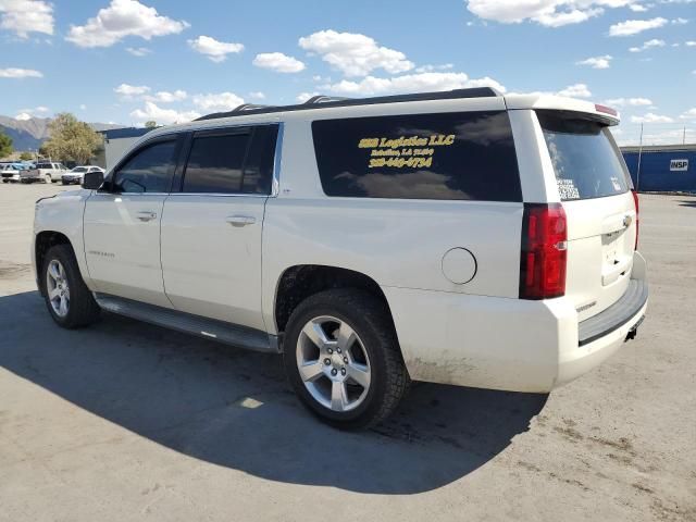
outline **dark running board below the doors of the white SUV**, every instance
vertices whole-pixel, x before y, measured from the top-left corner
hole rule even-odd
[[[259,330],[247,328],[224,321],[133,301],[123,297],[95,294],[97,303],[108,312],[137,319],[165,328],[217,340],[226,345],[266,353],[279,353],[278,339]]]

